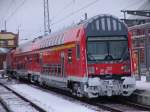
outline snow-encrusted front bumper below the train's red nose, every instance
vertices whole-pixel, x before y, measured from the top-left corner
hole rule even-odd
[[[100,78],[89,78],[88,84],[85,87],[85,92],[88,97],[98,96],[114,96],[122,95],[129,96],[135,90],[135,78],[134,77],[122,77],[121,80]]]

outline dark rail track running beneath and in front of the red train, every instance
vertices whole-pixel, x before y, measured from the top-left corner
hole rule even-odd
[[[98,99],[77,98],[76,96],[73,96],[66,91],[62,91],[60,89],[56,89],[53,87],[47,87],[47,86],[43,87],[37,84],[28,83],[24,81],[23,83],[26,83],[29,86],[32,86],[36,89],[41,89],[42,91],[45,92],[54,92],[55,94],[62,96],[67,100],[71,100],[71,101],[77,100],[81,103],[96,106],[100,109],[110,111],[110,112],[150,112],[149,106],[140,105],[135,102],[130,102],[128,99],[124,97],[116,97],[116,98],[101,97]],[[39,111],[39,112],[44,112],[44,111]]]

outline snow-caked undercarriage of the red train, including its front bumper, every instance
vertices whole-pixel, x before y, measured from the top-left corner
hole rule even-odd
[[[26,73],[23,71],[13,71],[10,73],[17,79],[22,78],[31,82],[40,83],[41,85],[67,89],[71,91],[73,95],[78,97],[96,98],[99,96],[130,96],[135,90],[135,78],[133,76],[124,76],[119,79],[86,77],[76,80],[75,78],[49,77],[48,75]]]

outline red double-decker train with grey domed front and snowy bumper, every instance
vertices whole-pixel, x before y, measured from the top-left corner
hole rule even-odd
[[[11,75],[80,97],[129,96],[135,90],[130,34],[112,15],[36,38],[11,51],[7,59]]]

